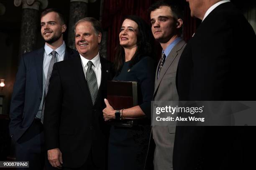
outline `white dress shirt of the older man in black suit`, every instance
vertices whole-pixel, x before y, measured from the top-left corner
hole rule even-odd
[[[92,58],[92,60],[87,60],[86,58],[84,58],[81,54],[80,58],[82,61],[82,66],[85,68],[85,70],[87,71],[88,65],[87,62],[91,61],[93,63],[92,65],[92,70],[95,72],[96,78],[97,78],[97,85],[98,85],[98,89],[100,87],[100,81],[101,81],[101,63],[100,63],[100,55],[99,53]],[[85,76],[86,79],[86,76]]]

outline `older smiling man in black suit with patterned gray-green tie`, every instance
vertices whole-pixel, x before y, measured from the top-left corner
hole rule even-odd
[[[75,25],[79,55],[56,63],[46,97],[44,131],[48,159],[64,170],[104,170],[108,135],[102,110],[111,65],[100,57],[102,29],[94,18]]]

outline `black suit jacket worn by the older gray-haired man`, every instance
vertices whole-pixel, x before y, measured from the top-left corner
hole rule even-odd
[[[82,166],[92,150],[94,163],[104,169],[108,132],[102,110],[107,80],[113,76],[110,62],[100,58],[100,63],[101,83],[95,105],[92,105],[80,56],[54,64],[46,96],[44,133],[46,149],[59,148],[64,167]]]

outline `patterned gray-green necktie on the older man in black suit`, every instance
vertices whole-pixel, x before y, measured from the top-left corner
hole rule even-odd
[[[88,68],[86,71],[86,80],[90,90],[92,104],[94,105],[97,97],[97,92],[98,92],[97,78],[96,78],[95,72],[92,70],[93,63],[91,61],[88,61],[87,65],[88,65]]]

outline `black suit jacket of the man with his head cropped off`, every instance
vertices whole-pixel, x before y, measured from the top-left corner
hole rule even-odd
[[[231,2],[212,10],[180,57],[179,100],[255,100],[255,42],[251,25]],[[250,130],[178,126],[174,170],[245,169],[246,147],[255,148]]]

